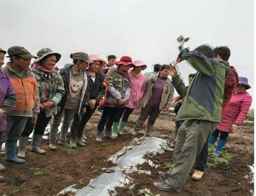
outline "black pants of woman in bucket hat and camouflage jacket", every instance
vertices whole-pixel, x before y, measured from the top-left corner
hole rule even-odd
[[[35,127],[34,127],[34,123],[31,123],[32,118],[28,119],[26,127],[21,134],[22,137],[30,136],[30,134],[33,132],[33,129],[34,129],[34,134],[41,135],[41,136],[44,135],[46,131],[46,127],[51,120],[51,117],[46,117],[46,111],[41,111],[37,117],[38,119],[35,123]]]

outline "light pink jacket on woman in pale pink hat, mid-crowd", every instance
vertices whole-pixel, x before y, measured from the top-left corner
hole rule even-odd
[[[131,93],[130,93],[130,102],[126,103],[125,107],[127,108],[137,108],[136,103],[140,103],[146,87],[146,76],[143,74],[139,78],[135,76],[133,71],[129,71],[129,76],[131,80]]]

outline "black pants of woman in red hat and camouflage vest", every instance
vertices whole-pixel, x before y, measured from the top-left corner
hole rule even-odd
[[[112,126],[114,124],[114,121],[117,119],[119,112],[123,108],[110,108],[110,107],[104,107],[102,117],[98,123],[98,131],[103,132],[105,125],[106,130],[112,130]]]

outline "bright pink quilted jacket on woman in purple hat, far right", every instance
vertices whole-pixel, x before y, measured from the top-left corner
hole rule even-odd
[[[232,125],[242,125],[248,115],[251,104],[252,97],[248,92],[234,94],[226,112],[222,115],[222,122],[217,129],[234,133],[231,130]]]

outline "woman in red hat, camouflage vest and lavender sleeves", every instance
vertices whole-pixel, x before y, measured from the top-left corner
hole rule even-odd
[[[131,92],[131,81],[128,71],[135,65],[129,56],[123,56],[119,61],[116,61],[117,69],[115,71],[108,71],[106,83],[108,85],[108,93],[104,99],[104,110],[102,117],[98,123],[97,142],[102,142],[102,132],[106,126],[105,137],[115,139],[112,136],[112,125],[114,120],[125,103],[129,103]]]

